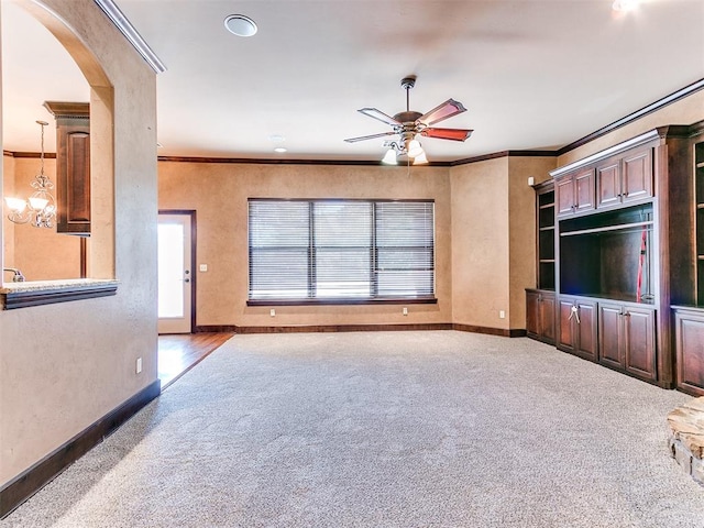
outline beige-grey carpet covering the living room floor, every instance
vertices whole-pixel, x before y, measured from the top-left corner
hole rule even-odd
[[[704,527],[688,399],[528,339],[235,336],[0,527]]]

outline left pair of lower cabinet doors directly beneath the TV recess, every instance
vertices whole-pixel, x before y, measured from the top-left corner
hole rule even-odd
[[[559,297],[557,331],[558,349],[585,360],[597,360],[597,315],[594,300]]]

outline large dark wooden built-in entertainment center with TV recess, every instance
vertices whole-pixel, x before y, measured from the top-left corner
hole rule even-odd
[[[702,133],[662,127],[550,173],[560,350],[702,389],[704,320],[671,317],[674,304],[704,307]]]

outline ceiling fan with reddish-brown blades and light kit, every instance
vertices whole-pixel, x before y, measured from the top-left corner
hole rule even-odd
[[[454,99],[448,99],[429,112],[415,112],[410,110],[410,89],[416,86],[416,77],[404,77],[400,81],[400,86],[406,90],[405,112],[398,112],[392,118],[376,108],[362,108],[358,110],[358,112],[369,116],[370,118],[391,124],[394,129],[393,131],[363,135],[360,138],[350,138],[344,141],[348,143],[355,143],[358,141],[373,140],[375,138],[385,138],[387,135],[398,134],[400,135],[400,140],[398,142],[384,142],[384,146],[389,147],[389,150],[386,152],[382,163],[396,164],[398,156],[406,155],[409,161],[413,160],[414,165],[416,165],[420,163],[428,163],[420,142],[416,140],[417,135],[452,141],[464,141],[472,135],[473,131],[468,129],[441,129],[432,127],[440,121],[466,111],[466,108],[464,108],[461,102],[455,101]]]

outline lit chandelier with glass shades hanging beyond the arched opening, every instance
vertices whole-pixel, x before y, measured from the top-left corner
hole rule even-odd
[[[37,121],[37,124],[42,127],[42,154],[40,174],[34,176],[31,184],[35,190],[26,200],[8,197],[4,201],[10,209],[8,212],[10,221],[14,223],[31,222],[35,228],[53,228],[56,219],[56,200],[51,189],[54,188],[54,183],[44,174],[44,127],[48,123]]]

